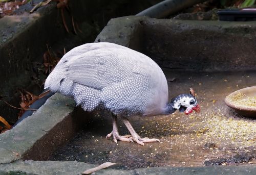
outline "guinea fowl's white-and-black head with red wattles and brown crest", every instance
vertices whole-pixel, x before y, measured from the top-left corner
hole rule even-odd
[[[200,107],[197,103],[195,91],[190,88],[190,94],[181,94],[173,98],[171,101],[173,108],[184,112],[186,115],[194,111],[200,112]]]

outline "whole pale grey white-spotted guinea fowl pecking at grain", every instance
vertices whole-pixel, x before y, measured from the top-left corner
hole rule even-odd
[[[199,112],[194,91],[181,94],[168,103],[167,81],[161,68],[149,57],[114,43],[87,43],[64,55],[45,82],[45,89],[73,97],[83,110],[112,113],[114,141],[160,142],[141,138],[128,118],[180,112]],[[120,136],[116,119],[121,117],[131,133]]]

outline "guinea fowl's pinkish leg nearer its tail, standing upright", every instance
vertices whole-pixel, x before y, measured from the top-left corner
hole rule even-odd
[[[116,124],[116,115],[112,114],[112,119],[113,119],[113,131],[110,134],[106,135],[106,138],[110,138],[113,135],[113,140],[115,143],[117,143],[117,140],[133,142],[131,135],[119,136],[117,124]]]

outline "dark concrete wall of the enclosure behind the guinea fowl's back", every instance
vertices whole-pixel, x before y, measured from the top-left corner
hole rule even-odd
[[[255,31],[255,22],[126,16],[110,20],[95,42],[134,48],[170,69],[255,70]]]

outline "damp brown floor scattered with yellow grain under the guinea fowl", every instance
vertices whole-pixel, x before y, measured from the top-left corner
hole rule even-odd
[[[83,130],[50,158],[100,164],[115,162],[116,169],[153,166],[204,166],[256,164],[256,119],[237,115],[223,99],[231,92],[256,85],[256,72],[164,71],[169,98],[188,93],[193,87],[201,113],[154,117],[132,117],[141,137],[160,139],[160,143],[136,143],[106,139],[112,131],[109,114],[98,114]],[[129,134],[118,121],[119,133]]]

